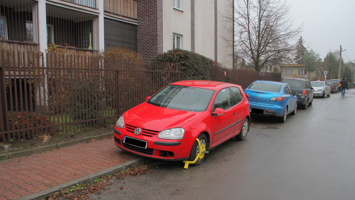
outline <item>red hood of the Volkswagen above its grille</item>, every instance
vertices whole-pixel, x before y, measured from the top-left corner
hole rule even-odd
[[[182,127],[203,112],[189,112],[142,103],[123,114],[125,124],[154,131]]]

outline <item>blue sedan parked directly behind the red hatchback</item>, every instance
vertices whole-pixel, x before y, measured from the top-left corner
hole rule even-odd
[[[254,81],[244,90],[250,105],[250,113],[276,116],[285,122],[288,114],[296,114],[297,96],[287,83]]]

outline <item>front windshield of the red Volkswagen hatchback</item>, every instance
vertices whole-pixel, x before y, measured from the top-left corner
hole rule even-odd
[[[147,103],[175,110],[203,112],[211,102],[214,92],[198,87],[168,85],[154,94]]]

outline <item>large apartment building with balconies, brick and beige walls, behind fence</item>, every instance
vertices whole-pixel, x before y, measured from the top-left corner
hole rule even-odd
[[[233,0],[0,0],[0,43],[83,55],[119,45],[144,60],[181,48],[232,67],[233,23],[223,17],[232,15]]]

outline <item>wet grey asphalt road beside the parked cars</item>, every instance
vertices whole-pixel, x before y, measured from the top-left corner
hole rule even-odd
[[[355,199],[355,89],[315,98],[286,123],[252,117],[246,140],[226,141],[201,165],[158,162],[91,199]]]

